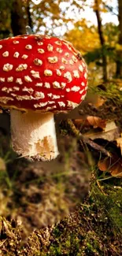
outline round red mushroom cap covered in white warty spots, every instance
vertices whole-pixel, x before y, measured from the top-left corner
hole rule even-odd
[[[74,109],[87,93],[87,66],[71,43],[46,35],[0,40],[0,106]]]

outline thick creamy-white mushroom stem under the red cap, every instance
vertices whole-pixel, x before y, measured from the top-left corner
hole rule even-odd
[[[10,110],[13,150],[25,158],[50,161],[57,158],[54,113],[22,113]]]

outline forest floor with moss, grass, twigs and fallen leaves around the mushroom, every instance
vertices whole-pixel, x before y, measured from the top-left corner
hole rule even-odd
[[[0,255],[122,255],[121,109],[120,81],[90,88],[56,117],[60,155],[44,163],[18,158],[2,126]]]

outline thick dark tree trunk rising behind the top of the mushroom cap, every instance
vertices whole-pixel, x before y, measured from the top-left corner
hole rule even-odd
[[[13,7],[11,10],[11,28],[13,35],[26,34],[26,18],[24,18],[24,10],[22,9],[23,2],[20,0],[13,0]]]

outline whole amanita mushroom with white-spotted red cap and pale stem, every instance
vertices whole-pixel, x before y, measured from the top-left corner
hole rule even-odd
[[[54,113],[87,93],[87,67],[71,43],[42,35],[0,40],[0,105],[10,109],[13,150],[48,161],[58,154]]]

